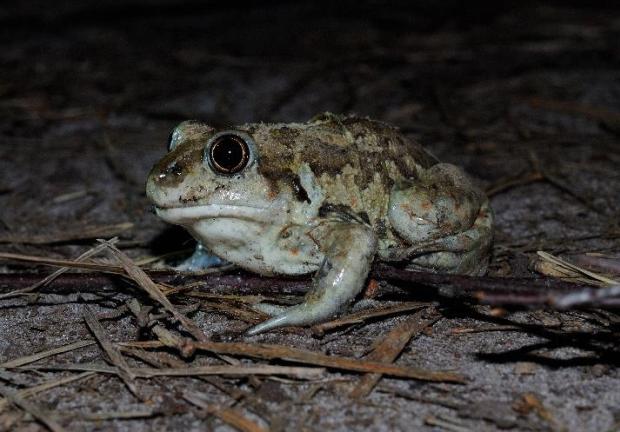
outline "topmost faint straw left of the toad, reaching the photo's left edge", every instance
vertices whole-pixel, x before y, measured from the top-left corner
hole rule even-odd
[[[76,240],[114,237],[131,228],[133,228],[133,223],[123,222],[113,225],[94,225],[78,227],[73,229],[66,229],[62,232],[34,236],[7,234],[4,236],[0,236],[0,243],[19,243],[32,245],[67,243]]]

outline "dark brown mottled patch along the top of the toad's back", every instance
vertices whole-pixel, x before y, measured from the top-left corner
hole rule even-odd
[[[416,167],[411,162],[423,168],[437,163],[398,129],[367,118],[324,114],[306,124],[271,125],[268,129],[241,126],[238,129],[254,137],[261,155],[261,171],[274,180],[283,173],[296,172],[303,162],[310,165],[317,177],[335,176],[350,165],[357,172],[358,187],[363,189],[374,173],[385,171],[388,160],[397,165],[402,178],[415,177]],[[383,179],[389,191],[395,179],[389,176]]]

